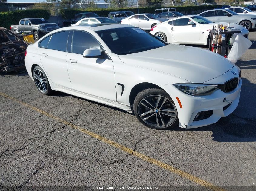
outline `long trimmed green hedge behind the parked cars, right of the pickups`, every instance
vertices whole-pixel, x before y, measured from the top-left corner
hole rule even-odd
[[[164,8],[159,7],[157,9]],[[201,5],[201,6],[178,6],[176,11],[181,12],[182,14],[198,14],[206,10],[211,10],[217,8],[217,5]],[[140,7],[140,13],[153,13],[155,14],[156,7]],[[74,19],[75,14],[85,13],[85,12],[94,12],[99,16],[108,16],[109,12],[114,11],[132,11],[135,14],[137,13],[137,8],[116,8],[116,9],[101,9],[101,8],[87,8],[84,9],[61,9],[60,14],[64,19]],[[160,13],[160,12],[158,12]]]

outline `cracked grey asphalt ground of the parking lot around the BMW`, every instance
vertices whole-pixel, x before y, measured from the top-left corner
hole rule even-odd
[[[26,72],[4,74],[0,190],[29,186],[191,190],[198,185],[207,190],[255,190],[256,30],[249,39],[254,43],[237,62],[243,80],[237,109],[218,123],[197,129],[149,129],[133,114],[116,108],[61,92],[44,96]]]

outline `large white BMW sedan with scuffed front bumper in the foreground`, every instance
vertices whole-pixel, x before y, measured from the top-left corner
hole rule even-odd
[[[125,24],[54,30],[27,48],[35,88],[134,112],[153,129],[217,122],[238,105],[240,69],[210,51],[167,44]]]

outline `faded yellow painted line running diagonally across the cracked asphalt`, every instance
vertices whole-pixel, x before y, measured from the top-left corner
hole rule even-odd
[[[163,168],[165,170],[168,170],[168,171],[170,171],[172,173],[175,173],[175,174],[177,174],[177,175],[179,175],[179,176],[181,176],[183,178],[191,180],[192,182],[197,183],[197,184],[199,184],[201,186],[204,186],[204,187],[206,187],[206,188],[208,188],[210,190],[213,190],[213,191],[225,191],[225,189],[222,189],[220,186],[214,186],[212,183],[208,182],[207,180],[203,180],[203,179],[201,179],[199,177],[196,177],[196,176],[194,176],[192,174],[189,174],[187,172],[179,170],[178,168],[172,167],[171,165],[165,164],[165,163],[163,163],[161,161],[158,161],[158,160],[156,160],[154,158],[148,157],[148,156],[146,156],[144,154],[141,154],[141,153],[139,153],[137,151],[133,151],[131,148],[125,147],[124,145],[121,145],[121,144],[119,144],[119,143],[117,143],[115,141],[112,141],[112,140],[110,140],[108,138],[105,138],[105,137],[103,137],[101,135],[98,135],[98,134],[96,134],[94,132],[91,132],[91,131],[88,131],[86,129],[83,129],[83,128],[77,126],[77,125],[74,125],[74,124],[64,120],[64,119],[61,119],[61,118],[59,118],[57,116],[54,116],[54,115],[52,115],[50,113],[47,113],[47,112],[45,112],[43,110],[40,110],[37,107],[34,107],[34,106],[32,106],[32,105],[30,105],[28,103],[20,101],[20,100],[14,98],[14,97],[10,97],[10,96],[8,96],[8,95],[6,95],[4,93],[1,93],[1,92],[0,92],[0,96],[3,96],[3,97],[5,97],[6,99],[9,99],[9,100],[13,100],[13,101],[15,101],[17,103],[20,103],[21,105],[23,105],[25,107],[28,107],[28,108],[30,108],[30,109],[38,112],[38,113],[41,113],[41,114],[43,114],[45,116],[48,116],[51,119],[54,119],[54,120],[59,121],[61,123],[64,123],[65,125],[68,125],[68,126],[74,128],[74,129],[76,129],[76,130],[78,130],[80,132],[83,132],[86,135],[89,135],[89,136],[91,136],[93,138],[101,140],[102,142],[104,142],[104,143],[106,143],[108,145],[111,145],[111,146],[113,146],[115,148],[118,148],[121,151],[129,153],[129,154],[131,154],[131,155],[133,155],[135,157],[138,157],[141,160],[146,161],[148,163],[155,164],[158,167],[161,167],[161,168]]]

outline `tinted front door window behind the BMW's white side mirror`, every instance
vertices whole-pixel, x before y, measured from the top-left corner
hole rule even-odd
[[[72,53],[83,54],[84,51],[89,48],[100,49],[100,44],[89,33],[82,31],[74,31]]]

